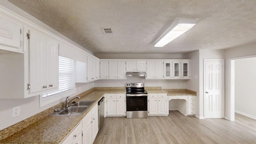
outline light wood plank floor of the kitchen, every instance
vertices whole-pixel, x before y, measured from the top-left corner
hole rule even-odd
[[[94,144],[256,144],[256,132],[225,119],[170,111],[149,118],[107,117]]]

